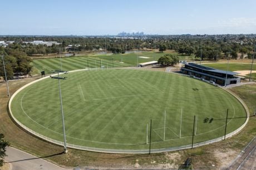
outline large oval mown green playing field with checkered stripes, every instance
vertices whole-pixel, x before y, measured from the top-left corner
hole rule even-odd
[[[189,77],[126,69],[80,71],[65,77],[61,90],[68,143],[147,149],[146,125],[152,119],[151,148],[175,147],[191,143],[194,115],[198,116],[194,142],[223,136],[227,108],[227,133],[245,121],[244,108],[231,94]],[[48,78],[23,89],[11,109],[27,127],[63,140],[57,79]],[[203,123],[205,117],[214,120]]]

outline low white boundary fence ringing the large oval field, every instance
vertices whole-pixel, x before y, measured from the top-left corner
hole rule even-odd
[[[80,70],[76,70],[76,71],[85,71],[86,69],[80,69]],[[71,71],[71,72],[76,72],[76,71]],[[56,74],[53,74],[52,76],[55,76]],[[12,114],[12,110],[11,110],[11,104],[12,104],[12,100],[13,98],[16,96],[16,94],[18,94],[20,91],[22,91],[22,89],[30,86],[31,84],[33,83],[36,83],[38,81],[41,81],[43,79],[46,79],[46,78],[49,78],[50,76],[47,76],[47,77],[43,77],[41,79],[37,79],[36,81],[33,81],[31,83],[28,83],[26,84],[25,86],[19,88],[11,97],[11,99],[9,100],[9,103],[8,103],[8,107],[9,107],[9,114],[11,115],[12,119],[20,126],[22,127],[23,129],[25,129],[26,131],[28,131],[29,133],[37,136],[37,137],[40,137],[42,139],[44,139],[45,141],[48,141],[48,142],[51,142],[51,143],[55,143],[55,144],[58,144],[60,146],[64,146],[64,143],[61,142],[61,141],[57,141],[55,139],[52,139],[52,138],[49,138],[49,137],[46,137],[46,136],[43,136],[42,134],[40,133],[37,133],[35,131],[33,131],[32,129],[29,129],[28,127],[24,126],[21,122],[19,122]],[[232,94],[235,98],[238,99],[238,101],[240,103],[242,103],[246,113],[247,113],[247,119],[246,121],[244,122],[244,124],[239,127],[238,129],[236,129],[235,131],[229,133],[226,135],[226,138],[228,137],[232,137],[234,136],[234,134],[237,134],[239,131],[241,131],[245,125],[247,124],[248,120],[249,120],[249,109],[247,108],[247,106],[245,105],[245,103],[242,101],[242,99],[240,99],[237,95],[235,95],[234,93],[230,92],[228,89],[226,88],[223,88],[225,91],[229,92],[230,94]],[[199,143],[194,143],[193,144],[193,148],[194,147],[200,147],[200,146],[204,146],[206,144],[210,144],[210,143],[215,143],[215,142],[219,142],[219,141],[222,141],[224,139],[224,136],[222,137],[219,137],[219,138],[215,138],[215,139],[211,139],[209,141],[205,141],[205,142],[199,142]],[[67,143],[67,147],[69,148],[75,148],[75,149],[81,149],[81,150],[85,150],[85,151],[95,151],[95,152],[105,152],[105,153],[149,153],[149,149],[104,149],[104,148],[93,148],[93,147],[85,147],[85,146],[79,146],[79,145],[76,145],[76,144],[71,144],[71,143]],[[161,149],[151,149],[151,153],[157,153],[157,152],[168,152],[168,151],[177,151],[177,150],[181,150],[181,149],[189,149],[191,148],[192,145],[189,144],[189,145],[186,145],[186,146],[179,146],[179,147],[170,147],[170,148],[161,148]]]

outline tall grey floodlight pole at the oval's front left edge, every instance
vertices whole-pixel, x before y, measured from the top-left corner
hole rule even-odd
[[[61,97],[61,82],[60,79],[66,79],[66,77],[60,77],[59,73],[67,73],[64,71],[55,71],[58,73],[58,77],[52,77],[51,78],[55,78],[58,79],[58,89],[60,92],[60,101],[61,101],[61,116],[62,116],[62,128],[63,128],[63,136],[64,136],[64,153],[67,153],[67,141],[66,141],[66,133],[65,133],[65,121],[64,121],[64,112],[63,112],[63,105],[62,105],[62,97]]]

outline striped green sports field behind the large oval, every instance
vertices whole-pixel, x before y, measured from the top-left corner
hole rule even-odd
[[[75,69],[83,68],[100,68],[104,67],[130,67],[137,66],[138,63],[149,62],[158,60],[161,56],[168,54],[167,52],[139,52],[139,53],[127,53],[127,54],[91,54],[90,56],[83,57],[63,57],[60,58],[50,58],[50,59],[33,59],[33,66],[38,71],[45,71],[46,74],[52,73],[53,70],[61,69],[71,71]],[[176,53],[175,53],[176,54]],[[179,56],[179,55],[178,55]],[[147,58],[142,58],[147,57]],[[180,60],[185,60],[191,58],[191,56],[179,56]]]

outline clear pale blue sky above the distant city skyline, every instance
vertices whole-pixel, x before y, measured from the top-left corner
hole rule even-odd
[[[256,0],[8,0],[1,35],[251,34]]]

